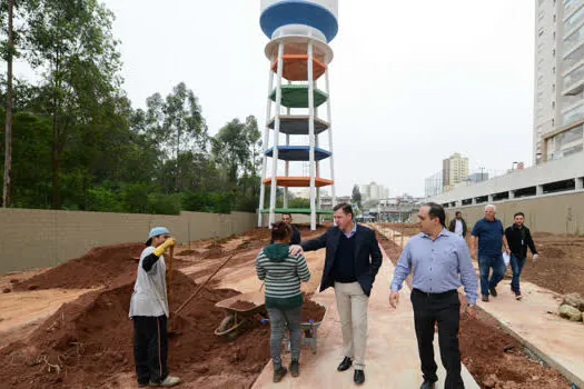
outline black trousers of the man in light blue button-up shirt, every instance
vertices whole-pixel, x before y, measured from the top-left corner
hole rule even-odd
[[[458,328],[461,322],[461,302],[456,290],[444,293],[425,293],[418,289],[412,291],[414,322],[418,341],[419,360],[424,380],[437,381],[436,361],[434,360],[434,326],[438,323],[438,345],[442,365],[446,369],[445,389],[464,388],[461,377],[461,350],[458,348]]]

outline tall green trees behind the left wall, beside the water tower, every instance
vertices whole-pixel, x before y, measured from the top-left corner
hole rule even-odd
[[[122,87],[113,17],[98,0],[1,2],[4,207],[255,211],[256,118],[235,118],[210,136],[184,82],[135,109]],[[13,78],[14,60],[34,80]]]

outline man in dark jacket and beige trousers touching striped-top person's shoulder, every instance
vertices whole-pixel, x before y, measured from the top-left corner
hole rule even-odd
[[[350,205],[339,203],[334,211],[334,227],[316,239],[290,247],[290,251],[294,255],[326,248],[320,291],[329,287],[335,288],[345,353],[337,369],[345,371],[355,360],[354,381],[363,383],[367,305],[383,256],[375,231],[353,220]]]

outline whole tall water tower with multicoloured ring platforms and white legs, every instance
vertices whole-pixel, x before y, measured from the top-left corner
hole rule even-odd
[[[261,0],[261,30],[270,41],[265,50],[269,82],[259,227],[264,213],[269,213],[273,223],[276,213],[290,212],[310,215],[310,228],[315,230],[317,216],[331,213],[320,207],[319,188],[330,187],[333,205],[336,202],[328,77],[333,50],[328,43],[337,34],[337,17],[338,0]],[[320,89],[323,79],[325,88]],[[326,120],[319,117],[325,110]],[[320,171],[325,160],[330,167],[328,178]],[[293,168],[301,173],[291,174]],[[268,208],[264,201],[266,186],[270,186]],[[283,208],[276,203],[278,187],[284,188]],[[308,188],[310,207],[289,208],[288,188]]]

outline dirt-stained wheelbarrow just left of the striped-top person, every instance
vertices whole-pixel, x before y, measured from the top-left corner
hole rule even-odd
[[[249,308],[234,307],[238,301],[249,302],[254,306]],[[259,313],[264,318],[267,317],[264,292],[260,291],[234,296],[217,302],[215,307],[225,310],[225,318],[215,330],[215,335],[225,340],[237,338],[241,326],[250,320],[254,315]]]

